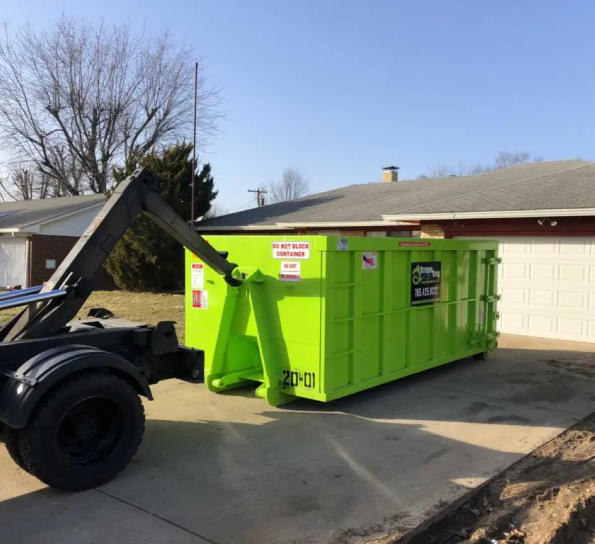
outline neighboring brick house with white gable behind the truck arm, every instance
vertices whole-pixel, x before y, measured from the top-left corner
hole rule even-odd
[[[0,203],[0,287],[46,281],[104,203],[104,195]],[[96,282],[114,285],[104,269]]]

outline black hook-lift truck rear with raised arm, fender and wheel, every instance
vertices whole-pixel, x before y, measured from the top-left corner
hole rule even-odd
[[[0,310],[23,307],[0,328],[0,439],[11,458],[50,487],[82,491],[120,473],[143,437],[139,396],[165,379],[201,381],[204,353],[178,344],[174,323],[156,326],[96,308],[77,313],[93,277],[140,214],[238,286],[235,264],[209,245],[138,169],[118,185],[43,286],[0,295]]]

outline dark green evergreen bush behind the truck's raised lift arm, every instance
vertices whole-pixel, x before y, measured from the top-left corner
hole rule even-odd
[[[159,193],[184,220],[190,220],[192,144],[176,144],[151,153],[115,172],[122,181],[137,165],[159,179]],[[195,176],[195,217],[205,215],[217,196],[210,164]],[[150,219],[137,218],[116,245],[106,268],[121,289],[128,291],[179,291],[184,289],[184,248]]]

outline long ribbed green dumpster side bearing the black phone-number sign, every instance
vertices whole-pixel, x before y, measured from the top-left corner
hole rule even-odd
[[[484,298],[496,292],[495,266],[488,264],[496,244],[375,243],[349,239],[349,249],[342,251],[334,240],[328,244],[323,321],[328,400],[487,351],[487,335],[495,333],[495,300]],[[415,300],[412,274],[418,266],[439,273],[431,284],[439,284],[435,300]]]

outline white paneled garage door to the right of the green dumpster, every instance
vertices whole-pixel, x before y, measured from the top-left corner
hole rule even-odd
[[[500,242],[500,332],[595,343],[595,237],[473,238]]]

